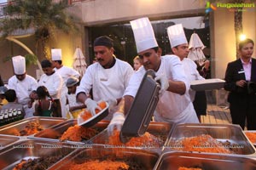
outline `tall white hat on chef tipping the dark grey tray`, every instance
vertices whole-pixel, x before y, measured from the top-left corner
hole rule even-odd
[[[137,53],[149,48],[158,47],[154,37],[154,31],[148,18],[131,20],[131,28],[135,37]]]

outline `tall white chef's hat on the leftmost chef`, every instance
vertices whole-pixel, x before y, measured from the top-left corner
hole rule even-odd
[[[15,75],[23,75],[26,72],[26,59],[21,55],[12,58]]]

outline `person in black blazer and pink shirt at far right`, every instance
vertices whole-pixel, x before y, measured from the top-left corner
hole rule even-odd
[[[233,124],[242,129],[256,130],[256,59],[253,40],[247,38],[239,43],[240,59],[230,62],[225,73],[224,89],[230,91],[230,114]]]

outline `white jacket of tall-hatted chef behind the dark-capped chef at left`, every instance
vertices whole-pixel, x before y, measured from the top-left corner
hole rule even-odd
[[[61,88],[61,115],[62,117],[67,117],[67,108],[66,108],[66,104],[67,104],[67,86],[66,86],[66,82],[67,79],[69,77],[80,77],[80,74],[78,71],[75,71],[73,68],[67,67],[62,65],[61,68],[54,69],[59,75],[61,75],[62,77],[62,88]]]

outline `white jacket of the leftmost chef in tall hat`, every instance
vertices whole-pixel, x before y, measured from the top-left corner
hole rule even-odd
[[[9,78],[8,88],[15,90],[18,103],[24,107],[25,118],[33,116],[34,110],[33,108],[28,108],[28,102],[30,101],[29,94],[38,88],[36,79],[26,74],[25,79],[20,81],[16,76],[13,76]]]

